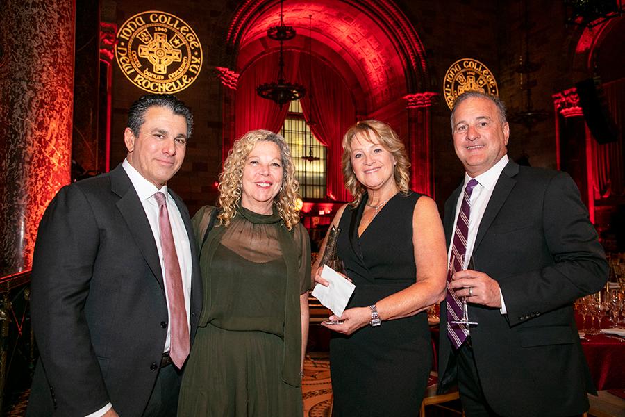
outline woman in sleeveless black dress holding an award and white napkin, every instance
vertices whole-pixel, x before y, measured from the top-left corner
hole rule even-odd
[[[358,122],[343,149],[345,186],[354,198],[332,225],[341,229],[338,256],[356,289],[343,315],[330,317],[342,323],[324,324],[334,331],[334,415],[414,416],[432,365],[425,310],[444,298],[440,216],[433,199],[409,190],[408,157],[390,126]],[[327,285],[318,264],[313,271]]]

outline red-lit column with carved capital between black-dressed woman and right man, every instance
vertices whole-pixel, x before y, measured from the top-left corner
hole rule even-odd
[[[417,92],[403,97],[408,101],[410,142],[406,150],[410,157],[410,189],[430,197],[434,197],[430,108],[437,95],[436,92]]]

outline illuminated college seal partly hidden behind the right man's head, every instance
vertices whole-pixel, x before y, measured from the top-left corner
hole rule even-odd
[[[478,60],[462,58],[451,64],[445,73],[443,84],[445,101],[449,110],[453,108],[453,101],[467,91],[485,92],[490,95],[499,95],[497,81],[492,72]]]

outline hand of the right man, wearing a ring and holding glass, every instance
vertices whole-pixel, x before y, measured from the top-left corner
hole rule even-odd
[[[472,304],[483,304],[501,309],[499,284],[484,272],[462,270],[453,274],[449,283],[458,297],[465,297]]]

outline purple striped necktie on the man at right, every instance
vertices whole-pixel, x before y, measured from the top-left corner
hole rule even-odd
[[[469,236],[469,215],[471,214],[471,194],[473,188],[478,185],[478,181],[471,179],[465,188],[462,197],[462,205],[460,205],[460,213],[456,221],[456,231],[453,235],[453,243],[451,244],[451,256],[449,259],[449,268],[447,268],[447,292],[445,301],[447,301],[447,336],[453,347],[460,347],[469,336],[469,327],[467,325],[451,324],[452,320],[458,321],[462,317],[462,301],[458,296],[449,289],[451,276],[454,272],[464,268],[463,260],[467,253],[467,236]]]

